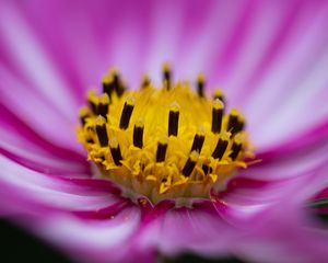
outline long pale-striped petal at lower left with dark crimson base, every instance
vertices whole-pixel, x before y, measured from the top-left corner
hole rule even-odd
[[[25,213],[31,207],[36,213],[52,209],[82,217],[108,218],[128,204],[127,199],[119,197],[120,191],[109,181],[49,176],[2,156],[0,163],[2,214]]]

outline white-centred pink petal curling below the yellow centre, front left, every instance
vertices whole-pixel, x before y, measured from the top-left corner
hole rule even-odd
[[[81,220],[68,215],[32,216],[24,224],[46,240],[70,253],[79,262],[118,262],[131,258],[138,250],[131,242],[140,224],[140,210],[128,206],[107,220]],[[149,252],[140,254],[147,256]]]

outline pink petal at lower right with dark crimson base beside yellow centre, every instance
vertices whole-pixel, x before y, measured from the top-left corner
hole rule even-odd
[[[211,199],[223,220],[236,228],[251,229],[256,227],[255,218],[270,214],[272,207],[283,207],[286,201],[303,207],[328,184],[327,171],[327,163],[323,163],[289,179],[260,181],[237,176],[227,183],[225,191],[213,192]]]

